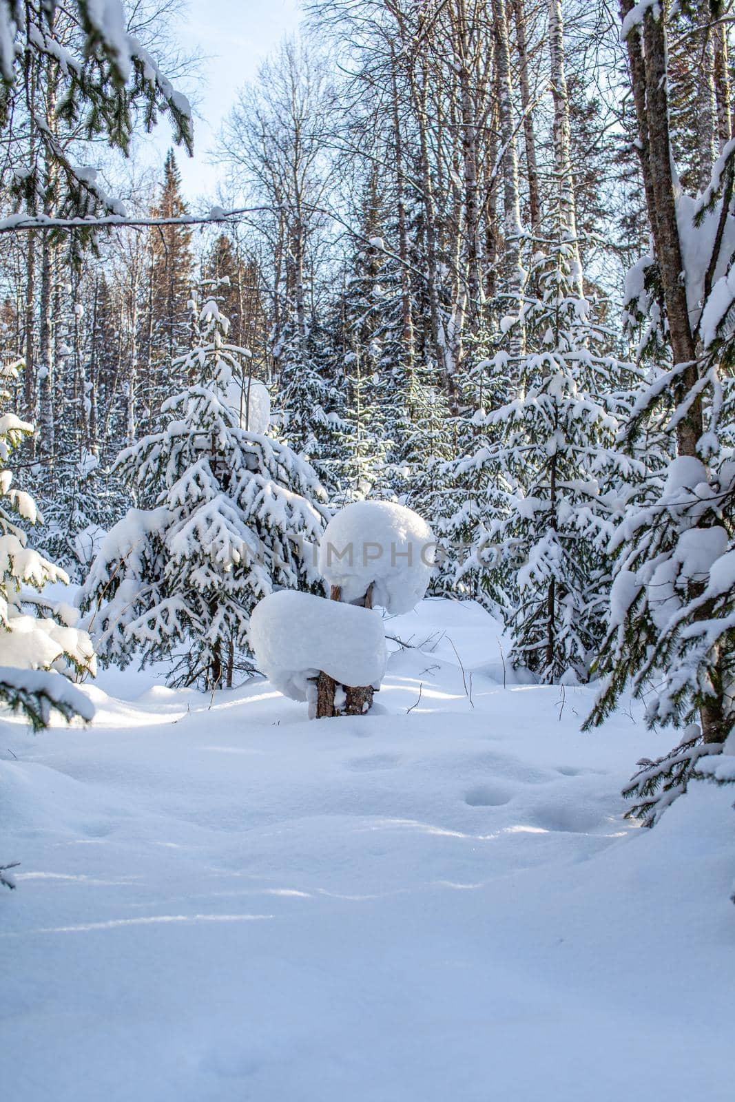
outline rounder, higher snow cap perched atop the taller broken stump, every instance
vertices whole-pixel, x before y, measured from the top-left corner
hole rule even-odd
[[[434,565],[435,539],[417,512],[392,501],[353,501],[326,526],[320,571],[357,601],[372,583],[372,603],[400,615],[423,597]]]

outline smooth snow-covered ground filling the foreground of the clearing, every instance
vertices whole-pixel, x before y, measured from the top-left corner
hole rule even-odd
[[[670,733],[504,688],[475,605],[387,631],[367,717],[159,670],[2,722],[3,1099],[731,1102],[732,789],[638,830]]]

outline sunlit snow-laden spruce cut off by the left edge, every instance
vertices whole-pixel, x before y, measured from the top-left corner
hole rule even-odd
[[[2,382],[15,374],[14,366],[3,367]],[[4,386],[0,398],[4,404]],[[63,570],[28,547],[20,521],[35,523],[35,505],[29,494],[11,488],[12,475],[4,467],[32,432],[14,413],[0,415],[0,701],[21,711],[37,731],[48,725],[52,711],[66,720],[91,719],[90,701],[68,679],[94,674],[95,652],[89,636],[73,626],[74,609],[22,593],[22,586],[41,591],[47,582],[68,582]]]

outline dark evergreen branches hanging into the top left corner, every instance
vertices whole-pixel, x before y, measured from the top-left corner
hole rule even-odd
[[[106,194],[97,171],[78,165],[69,137],[102,138],[127,155],[137,119],[142,117],[150,131],[163,111],[176,144],[191,153],[190,105],[127,33],[121,8],[93,0],[74,0],[68,7],[2,0],[0,43],[0,127],[9,142],[26,151],[28,163],[15,165],[13,193],[28,214],[85,218],[125,213]],[[44,99],[46,119],[40,116]],[[46,209],[50,185],[52,210]],[[83,226],[68,234],[77,261],[79,245],[94,235],[93,227]]]

